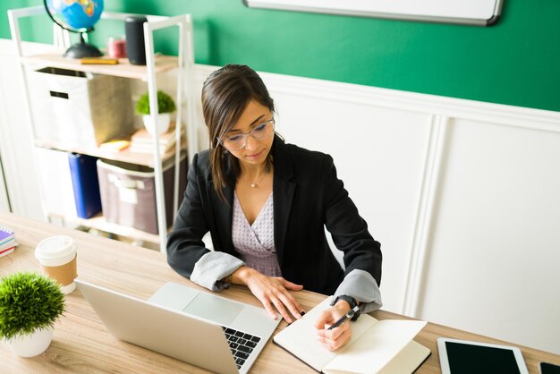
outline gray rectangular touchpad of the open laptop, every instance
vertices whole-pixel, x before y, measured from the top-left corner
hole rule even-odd
[[[202,319],[228,326],[242,311],[243,306],[209,293],[199,293],[182,311]]]

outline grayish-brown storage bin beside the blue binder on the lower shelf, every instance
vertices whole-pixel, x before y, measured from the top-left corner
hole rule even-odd
[[[187,157],[182,154],[179,177],[179,205],[187,186]],[[173,222],[174,157],[163,166],[165,217]],[[148,166],[98,159],[101,207],[106,221],[157,234],[156,180]]]

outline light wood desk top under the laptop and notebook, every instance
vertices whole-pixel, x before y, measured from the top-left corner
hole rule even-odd
[[[13,228],[16,232],[16,239],[21,244],[15,252],[0,258],[0,276],[21,270],[40,271],[33,253],[37,243],[48,236],[68,234],[78,245],[78,273],[86,281],[104,285],[144,300],[169,281],[200,288],[177,275],[167,265],[165,255],[157,251],[133,247],[123,242],[32,221],[12,214],[0,213],[0,225]],[[325,295],[311,292],[293,294],[306,310],[310,310],[325,298]],[[221,295],[260,306],[257,299],[242,286],[233,286],[222,292]],[[192,367],[188,363],[116,339],[106,330],[78,291],[67,295],[66,305],[67,311],[64,317],[55,324],[53,342],[42,355],[23,359],[13,354],[7,345],[0,344],[0,357],[2,357],[0,372],[207,372]],[[378,310],[372,315],[377,319],[407,319],[384,310]],[[285,326],[285,322],[282,322],[278,331]],[[428,323],[415,340],[427,346],[432,354],[417,370],[417,373],[441,372],[436,345],[436,339],[439,336],[505,343]],[[540,361],[560,364],[558,355],[523,346],[520,348],[530,373],[539,373]],[[272,342],[268,342],[267,347],[253,365],[252,372],[312,373],[314,371]]]

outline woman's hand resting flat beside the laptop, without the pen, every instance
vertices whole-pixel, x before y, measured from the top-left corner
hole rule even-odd
[[[244,266],[235,270],[232,278],[233,283],[247,285],[273,319],[276,319],[275,309],[288,323],[301,319],[303,309],[288,290],[301,291],[302,285],[296,285],[281,276],[265,276]]]

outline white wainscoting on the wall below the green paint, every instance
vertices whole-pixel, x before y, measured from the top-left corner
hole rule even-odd
[[[3,67],[9,48],[0,40]],[[215,69],[196,66],[199,149],[199,89]],[[278,132],[334,157],[381,242],[384,309],[560,353],[560,113],[261,75]],[[20,160],[0,147],[10,180]],[[25,214],[34,200],[11,185],[32,193],[35,178],[15,178],[13,210]]]

